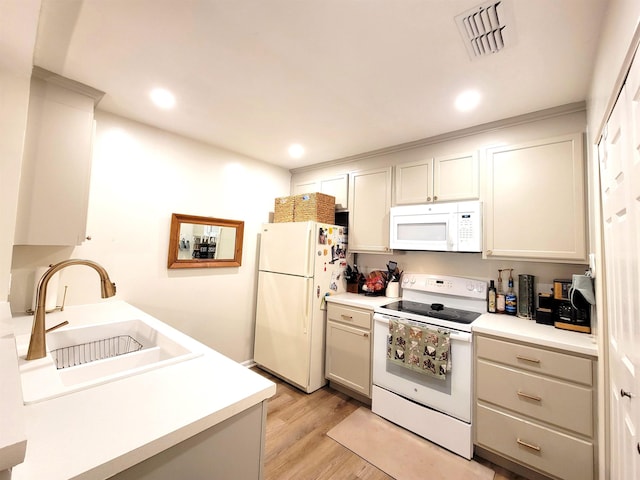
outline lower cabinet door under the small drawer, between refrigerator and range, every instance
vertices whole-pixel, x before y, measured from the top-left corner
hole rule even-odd
[[[369,331],[327,322],[326,353],[326,377],[371,398]]]

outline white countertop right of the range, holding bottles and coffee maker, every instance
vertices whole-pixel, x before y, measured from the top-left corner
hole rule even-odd
[[[556,348],[592,357],[598,356],[594,335],[561,330],[512,315],[485,313],[471,324],[474,333],[495,335],[510,340]]]

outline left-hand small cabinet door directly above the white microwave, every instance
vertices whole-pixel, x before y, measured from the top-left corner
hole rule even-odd
[[[427,203],[433,200],[433,160],[396,165],[395,204]]]

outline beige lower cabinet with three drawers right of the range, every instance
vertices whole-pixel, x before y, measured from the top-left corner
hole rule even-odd
[[[555,479],[595,475],[595,359],[476,336],[475,443]]]

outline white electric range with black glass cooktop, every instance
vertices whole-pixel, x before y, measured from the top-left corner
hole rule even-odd
[[[471,459],[471,326],[486,311],[487,282],[405,273],[401,286],[402,299],[374,310],[372,411]],[[390,360],[392,322],[448,333],[450,369],[446,378],[425,375]]]

